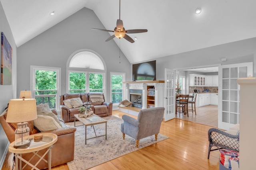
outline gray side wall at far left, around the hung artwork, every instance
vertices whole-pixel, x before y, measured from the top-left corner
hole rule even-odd
[[[16,44],[12,36],[12,31],[10,29],[9,23],[4,14],[2,4],[0,3],[0,32],[3,32],[6,36],[8,42],[12,47],[12,85],[0,85],[0,114],[4,111],[4,108],[9,103],[10,99],[13,99],[16,96],[16,80],[17,80],[17,62],[16,62]],[[1,62],[1,61],[0,61]],[[8,139],[4,133],[4,129],[0,125],[0,168],[2,161],[5,157],[4,151],[8,144]]]

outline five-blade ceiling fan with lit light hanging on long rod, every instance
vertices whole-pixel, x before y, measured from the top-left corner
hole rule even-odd
[[[119,39],[124,37],[124,39],[126,39],[127,41],[134,43],[134,40],[129,35],[127,35],[127,33],[144,33],[144,32],[148,32],[148,30],[147,29],[128,29],[128,30],[124,29],[123,21],[120,20],[120,1],[121,0],[119,0],[119,20],[116,21],[116,27],[114,28],[114,31],[106,30],[106,29],[97,29],[97,28],[92,28],[92,29],[99,30],[99,31],[114,32],[115,34],[110,36],[108,39],[106,39],[106,41],[109,41],[114,37],[117,37]]]

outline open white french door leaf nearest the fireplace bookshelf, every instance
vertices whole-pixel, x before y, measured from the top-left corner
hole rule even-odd
[[[168,121],[175,118],[175,70],[165,68],[164,77],[164,121]]]

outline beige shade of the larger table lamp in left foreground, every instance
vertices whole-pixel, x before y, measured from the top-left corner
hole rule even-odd
[[[28,91],[27,91],[28,92]],[[12,99],[9,102],[6,121],[18,123],[37,118],[36,99]]]

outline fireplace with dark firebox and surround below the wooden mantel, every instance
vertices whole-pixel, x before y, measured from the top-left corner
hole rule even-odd
[[[130,102],[132,102],[133,107],[142,108],[142,90],[130,89]]]

